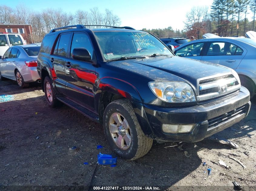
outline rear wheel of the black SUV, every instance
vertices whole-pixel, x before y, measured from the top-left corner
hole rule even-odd
[[[53,88],[52,81],[48,76],[45,77],[44,81],[45,97],[49,107],[56,107],[59,105],[59,101],[56,97],[56,91]]]

